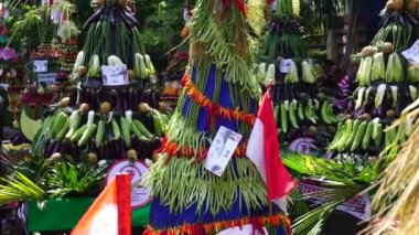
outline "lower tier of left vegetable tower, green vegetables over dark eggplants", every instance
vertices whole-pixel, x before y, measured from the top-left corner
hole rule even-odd
[[[143,160],[160,147],[160,137],[169,121],[166,115],[146,103],[139,105],[138,113],[116,111],[106,102],[100,104],[98,113],[87,104],[72,109],[66,103],[62,100],[63,106],[44,119],[33,142],[34,152],[45,158],[54,153],[94,152],[100,160],[125,159],[128,150],[133,149]]]

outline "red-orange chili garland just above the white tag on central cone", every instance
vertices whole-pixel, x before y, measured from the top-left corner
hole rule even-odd
[[[191,77],[187,73],[182,78],[182,85],[186,89],[186,94],[201,107],[207,108],[212,115],[217,115],[224,117],[229,120],[241,120],[249,126],[254,126],[256,115],[247,114],[245,111],[239,111],[238,109],[229,109],[225,108],[221,105],[214,104],[210,98],[207,98],[204,94],[197,89],[191,81]]]

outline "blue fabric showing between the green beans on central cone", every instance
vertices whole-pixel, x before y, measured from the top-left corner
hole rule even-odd
[[[192,82],[195,83],[197,75],[197,68],[192,70]],[[206,97],[213,98],[214,89],[215,89],[215,76],[216,76],[216,67],[213,65],[210,70],[207,84],[205,87],[205,90],[202,90],[203,94],[205,94]],[[230,99],[230,92],[229,92],[229,84],[223,79],[222,86],[221,86],[221,96],[219,96],[219,105],[226,108],[236,109],[236,107],[233,107],[233,103]],[[239,104],[240,105],[240,104]],[[185,98],[185,105],[182,110],[182,116],[185,117],[186,113],[191,106],[191,98],[186,96]],[[239,107],[241,110],[241,107]],[[250,110],[251,113],[255,113],[257,108],[256,100],[253,100],[250,103]],[[198,111],[198,124],[197,129],[200,131],[207,131],[208,130],[208,111],[206,108],[200,108]],[[223,117],[217,117],[216,119],[216,129],[218,129],[221,126],[224,126],[228,129],[232,129],[236,132],[238,132],[238,125],[236,120],[228,120]],[[211,135],[210,131],[206,132],[206,135]],[[237,173],[237,165],[236,165],[236,159],[232,159],[230,162],[234,165],[234,171]],[[240,192],[238,192],[239,196],[241,197]],[[265,199],[261,199],[265,200]],[[196,214],[196,204],[190,206],[189,209],[183,210],[182,212],[178,214],[171,214],[169,205],[162,205],[160,197],[155,196],[151,203],[151,214],[150,214],[150,224],[154,229],[165,229],[170,227],[176,227],[184,224],[205,224],[205,223],[213,223],[213,222],[219,222],[219,221],[234,221],[239,218],[246,218],[246,217],[257,217],[257,216],[267,216],[269,215],[269,209],[259,209],[259,210],[250,210],[248,211],[248,206],[244,203],[244,200],[237,200],[232,209],[229,211],[222,211],[217,215],[213,216],[210,211],[203,212],[202,214]],[[280,209],[272,204],[272,212],[279,213],[281,212]],[[279,235],[286,235],[287,232],[280,226],[277,228],[277,233]]]

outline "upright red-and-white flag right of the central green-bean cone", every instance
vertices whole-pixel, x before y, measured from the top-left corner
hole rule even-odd
[[[255,163],[264,179],[268,200],[279,204],[286,212],[286,196],[296,188],[280,159],[277,127],[270,92],[266,92],[251,130],[246,156]]]

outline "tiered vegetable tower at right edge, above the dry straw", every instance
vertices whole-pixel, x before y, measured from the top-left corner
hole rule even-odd
[[[386,128],[418,98],[418,65],[402,53],[419,36],[418,7],[416,0],[388,1],[372,44],[354,55],[359,61],[359,86],[353,94],[347,119],[339,124],[329,146],[331,156],[365,160],[390,145],[404,142],[411,133],[412,119],[397,128]]]

